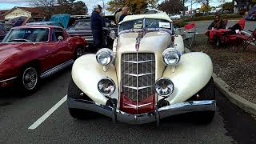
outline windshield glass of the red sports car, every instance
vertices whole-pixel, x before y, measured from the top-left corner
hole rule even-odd
[[[47,28],[23,28],[13,29],[3,42],[47,42],[49,29]]]

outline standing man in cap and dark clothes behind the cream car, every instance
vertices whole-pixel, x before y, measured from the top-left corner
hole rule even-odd
[[[99,50],[103,46],[103,26],[104,26],[104,19],[102,18],[102,6],[95,5],[94,11],[90,16],[90,28],[92,30],[92,34],[94,37],[94,50]]]

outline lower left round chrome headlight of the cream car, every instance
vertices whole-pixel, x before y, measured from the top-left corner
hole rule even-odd
[[[106,97],[114,93],[115,84],[111,78],[102,78],[98,82],[98,91]]]

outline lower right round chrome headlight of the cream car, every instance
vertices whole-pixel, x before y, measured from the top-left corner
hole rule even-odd
[[[169,78],[160,78],[155,83],[155,91],[162,97],[168,97],[174,92],[174,83]]]

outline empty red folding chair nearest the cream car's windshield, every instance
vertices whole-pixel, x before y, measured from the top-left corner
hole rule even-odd
[[[196,27],[195,27],[195,23],[192,22],[190,24],[187,24],[184,26],[184,29],[185,29],[185,36],[183,38],[184,40],[184,45],[187,47],[187,48],[192,48],[192,46],[194,45],[194,42],[195,42],[195,34],[197,33],[196,32]]]

